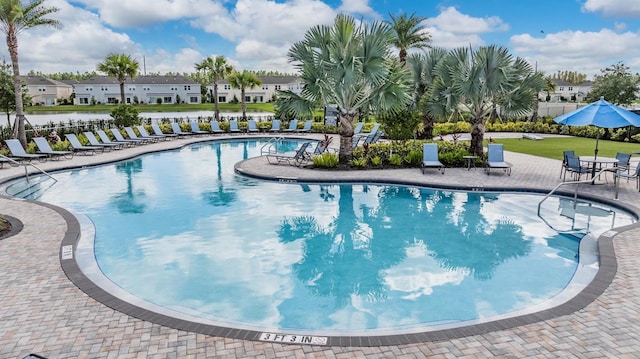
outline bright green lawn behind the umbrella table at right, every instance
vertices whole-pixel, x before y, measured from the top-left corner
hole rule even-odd
[[[506,151],[526,153],[530,155],[562,159],[562,151],[574,150],[577,156],[593,155],[596,148],[594,138],[583,137],[548,137],[540,141],[519,138],[497,138],[496,143],[504,144]],[[600,140],[598,156],[615,157],[616,152],[631,153],[640,151],[640,143],[628,143]]]

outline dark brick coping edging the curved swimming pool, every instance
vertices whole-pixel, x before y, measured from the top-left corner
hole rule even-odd
[[[255,138],[255,137],[253,137]],[[233,138],[232,138],[233,139]],[[229,140],[229,138],[221,139],[221,140]],[[209,142],[216,141],[215,139],[203,139],[202,141],[196,142]],[[179,146],[177,148],[185,147],[190,144],[196,143],[190,142]],[[169,150],[175,150],[176,148],[172,148]],[[154,151],[146,151],[144,153],[136,153],[125,159],[118,159],[115,161],[103,161],[96,163],[95,166],[100,166],[107,163],[118,162],[122,160],[136,158],[141,155],[153,153],[153,152],[161,152],[166,151],[163,150],[154,150]],[[240,161],[234,165],[234,170],[236,173],[245,175],[248,177],[253,177],[262,180],[269,181],[277,181],[277,182],[288,182],[288,183],[384,183],[384,184],[397,184],[397,185],[408,185],[408,186],[417,186],[417,187],[425,187],[425,188],[436,188],[436,189],[449,189],[449,190],[465,190],[465,191],[484,191],[484,192],[535,192],[535,193],[547,193],[549,189],[542,188],[505,188],[505,187],[478,187],[478,186],[446,186],[446,185],[430,185],[425,184],[424,182],[416,183],[415,181],[393,181],[389,179],[376,179],[369,178],[368,180],[318,180],[313,181],[310,179],[300,180],[298,181],[292,177],[286,176],[270,176],[264,175],[261,173],[249,172],[246,168],[239,170],[242,165],[246,165],[248,161],[252,161],[254,159],[248,159],[244,161]],[[89,166],[68,166],[65,168],[60,168],[59,170],[68,170],[78,167],[89,167]],[[91,166],[93,167],[93,166]],[[56,170],[58,171],[58,170]],[[336,173],[337,174],[337,173]],[[16,176],[21,177],[21,176]],[[8,178],[7,181],[10,181],[15,178]],[[563,196],[572,196],[573,193],[567,191],[558,191],[559,195]],[[13,200],[21,200],[15,199],[14,197],[8,197],[4,195],[0,195],[2,197],[7,197]],[[639,216],[637,208],[620,203],[613,202],[606,198],[595,196],[591,194],[583,194],[579,196],[580,198],[587,199],[590,201],[595,201],[599,203],[604,203],[612,207],[621,208],[626,210],[636,216]],[[30,201],[31,203],[35,203],[37,205],[41,205],[43,207],[50,208],[56,211],[67,223],[67,231],[65,232],[64,238],[61,242],[60,252],[59,252],[59,260],[63,271],[67,278],[76,285],[80,290],[86,293],[91,298],[96,301],[114,309],[119,312],[122,312],[126,315],[130,315],[132,317],[145,320],[151,323],[156,323],[159,325],[164,325],[167,327],[175,328],[178,330],[184,330],[189,332],[201,333],[205,335],[212,335],[217,337],[226,337],[233,339],[242,339],[242,340],[252,340],[259,341],[260,335],[262,332],[255,330],[244,330],[244,329],[236,329],[230,327],[222,327],[222,326],[214,326],[214,325],[206,325],[200,324],[196,322],[190,322],[182,319],[177,319],[173,317],[169,317],[163,314],[159,314],[156,312],[149,311],[147,309],[139,308],[135,305],[127,303],[110,293],[104,291],[102,288],[95,285],[91,282],[85,275],[82,273],[80,268],[78,267],[75,261],[75,249],[80,238],[81,228],[78,219],[68,210],[58,207],[52,204],[38,202],[38,201]],[[578,293],[573,298],[569,299],[565,303],[562,303],[558,306],[541,310],[539,312],[525,314],[520,316],[514,316],[511,318],[498,319],[495,321],[471,324],[463,327],[450,328],[450,329],[440,329],[434,331],[425,331],[418,333],[407,333],[407,334],[392,334],[392,335],[371,335],[371,336],[328,336],[327,341],[324,345],[327,346],[359,346],[359,347],[369,347],[369,346],[389,346],[389,345],[400,345],[400,344],[411,344],[411,343],[421,343],[426,341],[440,341],[440,340],[450,340],[456,338],[462,338],[466,336],[484,334],[487,332],[499,331],[504,329],[510,329],[514,327],[519,327],[527,324],[532,324],[536,322],[545,321],[552,318],[557,318],[560,316],[568,315],[575,313],[578,310],[583,309],[588,304],[592,303],[596,298],[598,298],[612,283],[613,278],[617,272],[617,259],[615,256],[615,251],[613,247],[613,238],[624,231],[638,228],[640,223],[636,222],[632,225],[622,226],[614,228],[610,231],[605,232],[597,239],[598,243],[598,252],[599,252],[599,269],[596,273],[594,279],[583,288],[580,293]],[[69,247],[70,246],[70,247]],[[73,255],[71,258],[67,258],[68,252],[65,248],[72,248]],[[73,259],[73,260],[71,260]],[[280,342],[283,344],[287,344],[286,342]],[[291,344],[300,344],[300,343],[291,343]]]

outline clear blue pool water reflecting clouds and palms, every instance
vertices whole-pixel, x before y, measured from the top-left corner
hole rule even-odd
[[[634,221],[560,197],[541,218],[536,194],[236,175],[233,165],[264,144],[206,142],[64,171],[36,197],[89,219],[90,256],[136,304],[315,333],[412,330],[541,305],[574,278],[587,232]]]

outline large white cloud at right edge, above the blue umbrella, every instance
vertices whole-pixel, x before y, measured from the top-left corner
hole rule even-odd
[[[562,31],[543,38],[521,34],[512,36],[510,44],[514,54],[537,62],[542,71],[577,71],[592,78],[618,61],[640,67],[640,34],[634,32]]]

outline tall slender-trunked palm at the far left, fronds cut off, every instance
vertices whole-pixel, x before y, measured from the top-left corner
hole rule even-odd
[[[7,48],[13,67],[13,88],[16,97],[16,123],[14,135],[22,145],[27,146],[27,135],[24,130],[24,103],[22,101],[22,83],[20,66],[18,65],[18,34],[22,30],[40,25],[60,27],[60,21],[47,18],[57,12],[56,7],[44,6],[44,0],[34,0],[22,4],[20,0],[0,0],[0,31],[7,37]]]

